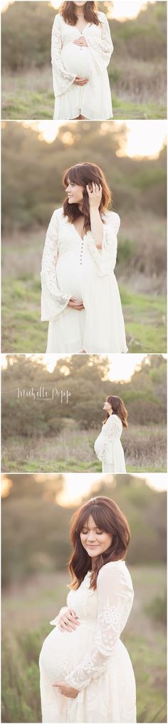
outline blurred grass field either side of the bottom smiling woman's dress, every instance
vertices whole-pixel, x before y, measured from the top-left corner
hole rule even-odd
[[[133,566],[130,572],[135,599],[122,641],[135,671],[138,723],[164,723],[167,721],[165,626],[161,615],[155,620],[152,612],[158,591],[164,597],[166,571],[164,566],[151,565]],[[38,656],[43,639],[51,631],[49,621],[65,603],[67,581],[65,573],[43,574],[4,593],[3,722],[41,722]]]

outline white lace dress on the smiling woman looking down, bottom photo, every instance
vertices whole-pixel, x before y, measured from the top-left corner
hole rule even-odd
[[[133,604],[130,573],[124,561],[106,563],[96,591],[89,589],[90,576],[67,596],[80,626],[71,632],[54,628],[41,649],[43,723],[136,721],[133,666],[119,638]],[[56,625],[58,618],[51,623]],[[59,681],[79,689],[76,699],[53,688]]]

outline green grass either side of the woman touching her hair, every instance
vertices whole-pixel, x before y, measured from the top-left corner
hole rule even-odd
[[[166,301],[120,288],[130,353],[164,353],[167,350]],[[41,284],[37,277],[9,279],[2,303],[2,351],[43,353],[47,322],[41,323]],[[71,351],[71,350],[70,350]]]

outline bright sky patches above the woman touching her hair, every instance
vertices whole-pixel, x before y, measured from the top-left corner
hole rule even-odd
[[[30,0],[31,1],[31,0]],[[20,121],[22,123],[22,121]],[[73,128],[80,121],[58,122],[58,121],[24,121],[23,125],[26,127],[32,127],[33,130],[38,132],[39,140],[45,140],[46,143],[53,143],[56,135],[59,132],[59,127],[64,129],[63,141],[67,146],[73,143]],[[117,156],[129,156],[129,158],[143,158],[147,156],[151,159],[157,159],[161,148],[164,146],[167,140],[167,121],[156,120],[156,121],[111,121],[100,123],[100,134],[103,138],[106,132],[109,130],[109,125],[112,128],[112,132],[116,132],[119,128],[123,128],[123,123],[126,128],[126,142],[123,146],[119,146],[117,150]],[[67,132],[67,126],[70,127],[70,131]],[[76,128],[75,128],[76,130]],[[122,136],[121,136],[122,138]],[[122,143],[122,140],[121,140]]]

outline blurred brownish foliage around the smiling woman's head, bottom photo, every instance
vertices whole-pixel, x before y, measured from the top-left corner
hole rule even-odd
[[[64,476],[9,473],[8,477],[12,487],[2,502],[4,586],[24,583],[37,573],[64,571],[70,556],[69,523],[75,510],[56,504]],[[109,483],[102,476],[90,497],[96,494],[115,500],[130,523],[128,563],[166,560],[166,493],[155,492],[143,479],[127,474],[109,476]]]

